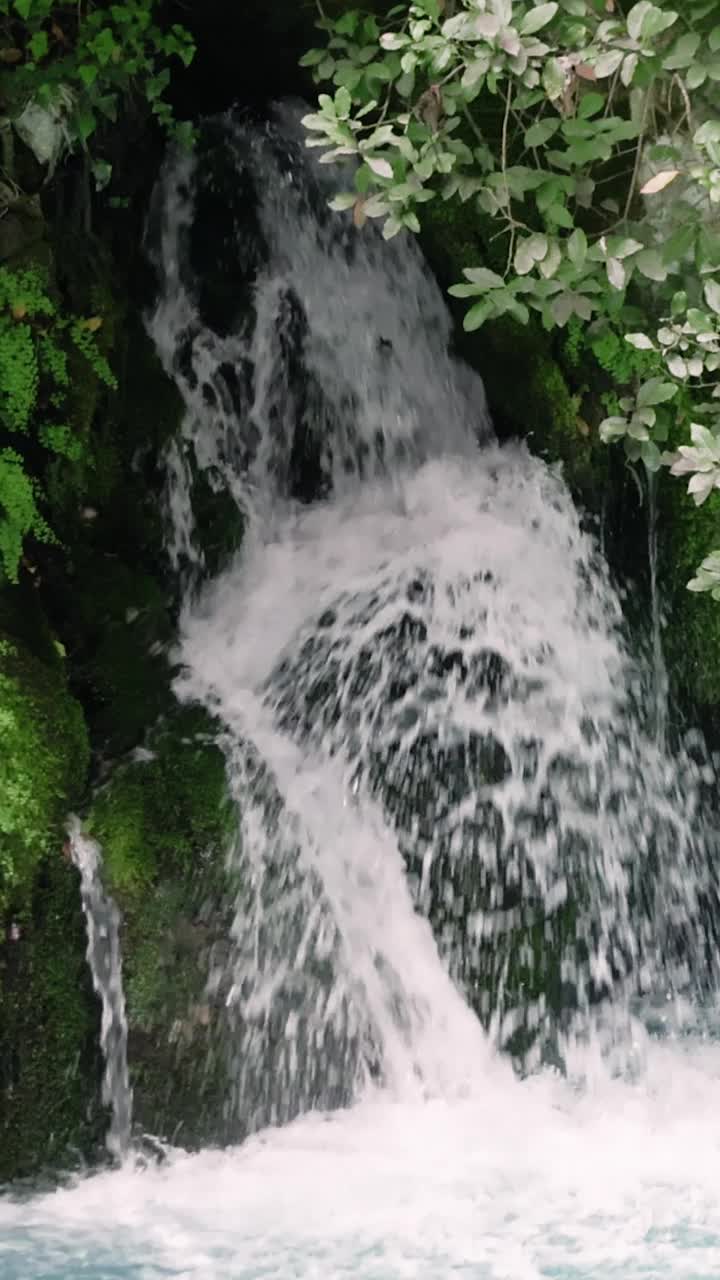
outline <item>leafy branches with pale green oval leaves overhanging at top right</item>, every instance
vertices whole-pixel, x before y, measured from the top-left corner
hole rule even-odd
[[[319,27],[302,63],[332,91],[307,146],[356,160],[332,206],[391,238],[427,201],[474,205],[492,269],[450,289],[465,328],[570,326],[570,358],[616,380],[602,439],[648,470],[697,463],[703,500],[720,466],[662,447],[678,421],[720,439],[716,0],[405,0]]]

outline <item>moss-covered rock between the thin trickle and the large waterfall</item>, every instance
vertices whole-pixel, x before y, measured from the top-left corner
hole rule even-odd
[[[187,1144],[219,1138],[225,1059],[205,992],[210,952],[232,919],[225,855],[236,823],[205,713],[176,708],[142,759],[96,794],[87,827],[123,914],[136,1121]]]

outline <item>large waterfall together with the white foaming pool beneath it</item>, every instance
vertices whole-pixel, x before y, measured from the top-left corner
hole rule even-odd
[[[594,543],[493,442],[416,248],[327,211],[287,113],[213,136],[161,187],[152,333],[250,1137],[0,1202],[3,1275],[715,1280],[712,772],[667,754]],[[200,484],[245,524],[202,589]]]

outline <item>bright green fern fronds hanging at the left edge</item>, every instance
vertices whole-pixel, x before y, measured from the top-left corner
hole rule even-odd
[[[99,381],[117,385],[97,344],[100,326],[100,316],[61,315],[42,270],[0,268],[0,426],[8,442],[0,448],[0,570],[10,581],[28,535],[54,540],[27,454],[40,448],[77,462],[86,448],[67,417],[73,349]]]

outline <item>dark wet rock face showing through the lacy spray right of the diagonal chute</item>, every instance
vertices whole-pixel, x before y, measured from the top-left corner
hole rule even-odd
[[[265,699],[382,806],[452,975],[529,1066],[560,1061],[565,1034],[644,973],[687,982],[715,899],[701,844],[707,892],[688,902],[664,879],[688,837],[644,803],[632,724],[588,713],[570,741],[547,641],[534,663],[491,643],[501,590],[484,571],[378,568],[299,631]]]

